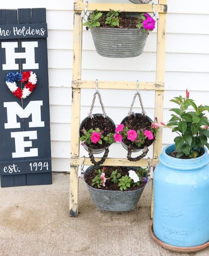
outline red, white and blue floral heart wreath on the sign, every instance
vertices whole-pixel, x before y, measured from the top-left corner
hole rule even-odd
[[[21,83],[26,82],[23,89],[17,87],[15,81],[20,81]],[[22,73],[19,72],[10,72],[6,75],[6,84],[10,91],[19,99],[25,99],[29,96],[33,89],[36,87],[37,76],[32,71],[25,71]]]

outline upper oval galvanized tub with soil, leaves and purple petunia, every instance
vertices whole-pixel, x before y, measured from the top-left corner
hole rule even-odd
[[[88,16],[86,25],[99,55],[131,58],[142,54],[149,31],[155,28],[155,20],[148,13],[95,10]]]

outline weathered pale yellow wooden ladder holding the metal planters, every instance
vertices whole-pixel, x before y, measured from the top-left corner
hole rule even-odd
[[[157,63],[156,81],[139,82],[139,90],[155,91],[155,116],[159,121],[163,120],[163,95],[164,95],[164,69],[165,69],[165,26],[167,13],[167,0],[158,0],[155,5],[159,13],[157,22]],[[88,11],[109,11],[109,9],[121,12],[152,13],[150,4],[111,4],[88,3]],[[73,30],[73,73],[72,73],[72,131],[71,131],[71,176],[70,176],[70,216],[78,216],[78,166],[82,164],[83,157],[79,157],[79,125],[80,125],[80,90],[83,88],[95,88],[95,81],[81,80],[82,58],[82,18],[81,12],[85,10],[83,0],[74,2],[74,30]],[[136,90],[136,82],[99,81],[99,89],[127,89]],[[157,133],[153,146],[153,157],[150,163],[157,164],[158,156],[162,150],[162,130]],[[95,158],[98,161],[98,158]],[[107,158],[105,166],[147,166],[147,159],[130,162],[126,158]],[[85,158],[85,165],[92,165],[89,158]],[[153,183],[151,217],[153,215]]]

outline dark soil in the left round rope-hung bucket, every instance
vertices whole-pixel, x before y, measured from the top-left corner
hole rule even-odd
[[[80,127],[80,130],[85,129],[86,131],[93,128],[94,130],[96,128],[99,128],[100,131],[104,131],[103,135],[104,137],[107,134],[114,133],[115,132],[115,124],[111,122],[111,120],[107,117],[104,118],[102,115],[94,115],[93,118],[88,117],[86,121],[82,123],[82,126]],[[82,132],[80,131],[80,136],[82,135]],[[87,145],[89,148],[92,149],[101,149],[105,148],[105,146],[110,146],[109,143],[103,141],[102,144],[94,144]]]

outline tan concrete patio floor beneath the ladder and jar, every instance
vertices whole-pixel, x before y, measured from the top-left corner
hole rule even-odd
[[[0,256],[208,256],[175,253],[152,241],[151,186],[130,212],[97,209],[81,180],[79,215],[69,216],[70,175],[53,173],[53,184],[0,188]]]

